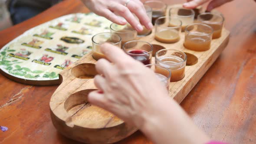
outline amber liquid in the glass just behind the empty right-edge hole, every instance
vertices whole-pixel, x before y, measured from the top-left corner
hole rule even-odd
[[[206,51],[210,49],[211,38],[209,36],[187,35],[185,36],[184,46],[194,51]]]

